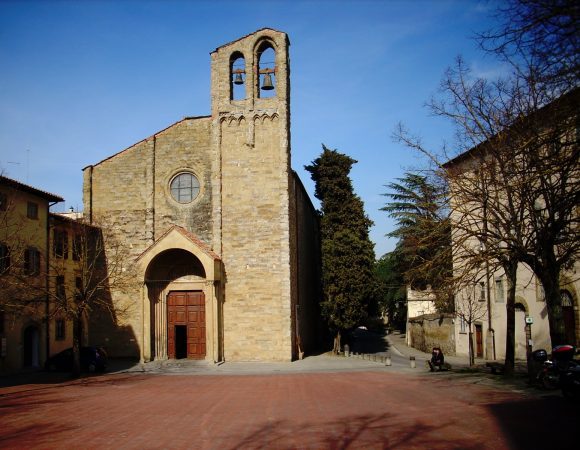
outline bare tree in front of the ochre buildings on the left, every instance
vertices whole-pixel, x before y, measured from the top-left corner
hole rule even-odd
[[[0,286],[0,307],[15,316],[34,313],[47,321],[59,317],[71,322],[73,373],[78,375],[83,323],[91,313],[105,310],[113,323],[129,313],[130,305],[112,302],[111,290],[126,292],[134,286],[134,258],[106,221],[93,218],[88,224],[51,215],[52,245],[32,261],[26,256],[31,236],[21,231],[23,222],[14,220],[13,208],[8,206],[11,219],[4,222],[2,239],[10,243],[10,259],[2,265],[7,270]],[[64,237],[58,234],[63,231]],[[37,264],[40,260],[43,264]]]

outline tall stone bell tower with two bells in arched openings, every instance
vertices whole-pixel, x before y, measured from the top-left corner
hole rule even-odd
[[[265,28],[211,53],[212,247],[225,271],[226,360],[292,358],[288,46],[285,33]]]

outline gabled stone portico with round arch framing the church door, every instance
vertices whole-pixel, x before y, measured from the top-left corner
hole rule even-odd
[[[174,226],[139,257],[138,264],[143,276],[141,359],[219,361],[219,257],[195,236]]]

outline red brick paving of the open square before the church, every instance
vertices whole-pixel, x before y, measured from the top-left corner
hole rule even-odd
[[[438,374],[120,373],[0,388],[0,423],[0,448],[561,449],[578,413]]]

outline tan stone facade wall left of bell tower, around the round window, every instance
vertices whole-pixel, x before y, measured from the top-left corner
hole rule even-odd
[[[156,135],[85,169],[84,207],[97,224],[112,227],[133,257],[172,224],[211,242],[211,148],[209,118],[184,119]],[[198,198],[181,205],[169,183],[182,170],[198,177]],[[142,342],[139,283],[133,292],[111,292],[115,305],[129,305],[117,317],[93,315],[89,340],[105,343],[111,356],[138,356]]]

